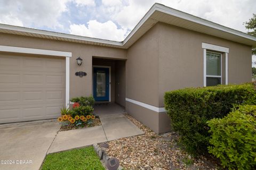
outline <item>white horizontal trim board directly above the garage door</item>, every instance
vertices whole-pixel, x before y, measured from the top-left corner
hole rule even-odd
[[[13,46],[0,46],[0,52],[50,55],[50,56],[61,56],[61,57],[72,56],[71,52],[61,52],[61,51],[48,50],[48,49],[24,48],[24,47],[13,47]]]

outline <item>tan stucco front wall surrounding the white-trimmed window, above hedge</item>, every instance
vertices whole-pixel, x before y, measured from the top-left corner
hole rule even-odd
[[[202,43],[229,48],[228,83],[251,81],[251,47],[203,33],[159,23],[159,107],[164,92],[186,87],[203,87]],[[225,56],[225,55],[223,55]],[[225,64],[225,63],[222,63]],[[222,75],[225,72],[222,72]]]

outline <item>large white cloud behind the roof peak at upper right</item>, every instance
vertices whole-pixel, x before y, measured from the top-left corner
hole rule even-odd
[[[241,0],[127,0],[126,3],[124,2],[126,1],[122,1],[121,5],[110,5],[111,3],[106,5],[102,1],[102,5],[105,5],[106,11],[110,12],[111,20],[117,22],[122,28],[130,30],[135,27],[154,3],[161,3],[226,27],[246,32],[243,22],[252,17],[256,6],[255,0],[243,2]]]

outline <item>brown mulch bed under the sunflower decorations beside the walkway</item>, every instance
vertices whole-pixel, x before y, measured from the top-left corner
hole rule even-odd
[[[59,131],[68,131],[73,129],[81,129],[81,128],[89,128],[93,126],[99,126],[101,125],[100,118],[98,116],[95,117],[94,120],[92,120],[92,123],[87,124],[87,122],[84,122],[83,125],[76,126],[75,124],[71,124],[68,121],[61,122],[61,128]]]

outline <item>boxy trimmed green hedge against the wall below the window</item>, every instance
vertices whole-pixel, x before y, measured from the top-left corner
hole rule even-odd
[[[183,147],[197,155],[209,146],[210,128],[206,122],[226,116],[233,105],[253,101],[255,95],[253,83],[220,85],[166,92],[164,103]]]

